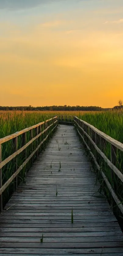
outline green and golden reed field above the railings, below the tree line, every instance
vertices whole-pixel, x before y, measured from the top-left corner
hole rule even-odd
[[[0,138],[42,122],[49,117],[77,116],[123,143],[123,111],[0,111]]]

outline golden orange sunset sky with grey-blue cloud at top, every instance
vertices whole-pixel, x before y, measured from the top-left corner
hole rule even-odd
[[[122,0],[0,0],[0,106],[119,99]]]

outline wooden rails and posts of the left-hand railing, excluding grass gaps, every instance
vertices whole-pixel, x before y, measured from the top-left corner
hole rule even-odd
[[[20,173],[20,171],[24,168],[24,166],[26,166],[26,164],[29,162],[29,160],[34,156],[34,154],[37,152],[37,157],[38,157],[38,150],[41,147],[41,145],[47,141],[48,137],[50,134],[52,134],[53,130],[56,128],[56,126],[58,125],[58,119],[57,116],[56,117],[52,117],[46,121],[43,121],[39,124],[33,125],[29,128],[26,128],[24,130],[21,130],[19,132],[16,132],[12,135],[6,136],[2,139],[0,139],[0,210],[2,211],[2,193],[4,192],[4,190],[9,186],[9,184],[16,178],[16,188],[17,188],[17,175]],[[35,129],[35,133],[36,136],[33,137],[33,130]],[[27,132],[30,132],[30,137],[31,139],[27,142]],[[21,141],[22,141],[22,146],[18,149],[18,137],[21,135]],[[44,136],[44,138],[42,139],[42,141],[38,141],[39,138],[41,138],[41,136]],[[12,140],[12,145],[14,148],[14,153],[12,153],[9,157],[5,158],[4,160],[2,160],[2,144],[4,144],[5,142],[9,142],[10,140]],[[27,157],[27,147],[31,144],[33,144],[33,142],[36,141],[36,148],[33,149],[32,146],[32,152],[31,154]],[[23,161],[23,163],[18,167],[17,164],[17,156],[24,152],[25,155],[25,160]],[[11,175],[11,177],[4,183],[2,184],[2,168],[5,167],[6,164],[8,164],[11,160],[13,160],[14,158],[16,158],[16,170],[13,173],[13,175]]]

